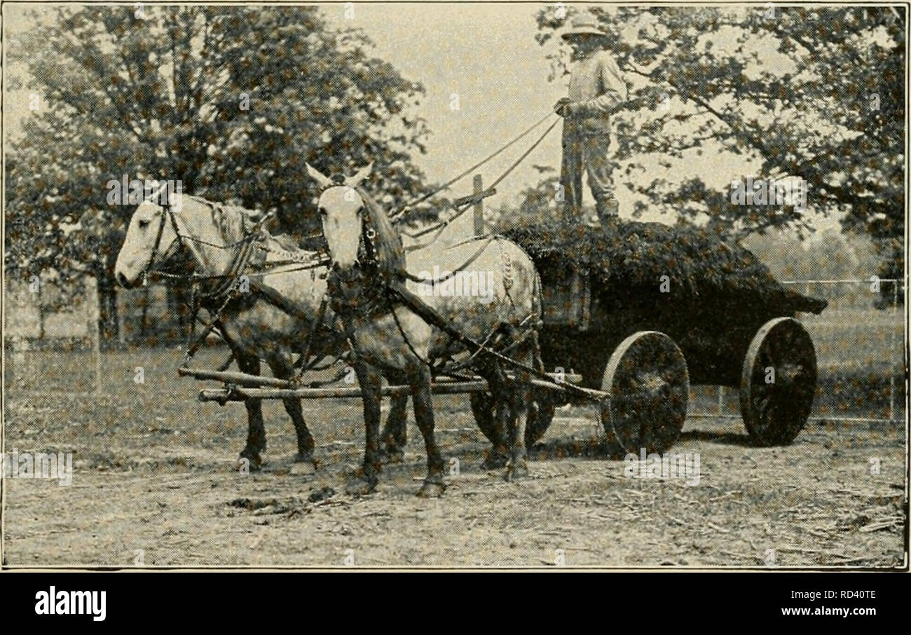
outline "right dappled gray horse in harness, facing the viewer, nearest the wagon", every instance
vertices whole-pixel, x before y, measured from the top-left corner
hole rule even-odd
[[[430,364],[464,354],[465,347],[397,302],[389,290],[404,288],[420,297],[456,330],[477,342],[498,336],[498,341],[512,343],[509,355],[532,367],[539,357],[540,281],[531,259],[516,244],[499,238],[482,239],[425,252],[424,262],[435,261],[438,271],[464,270],[470,262],[473,271],[486,276],[489,294],[483,299],[471,293],[426,294],[426,287],[421,289],[420,282],[405,274],[402,240],[384,210],[360,187],[370,168],[351,179],[330,179],[307,166],[321,188],[319,212],[332,259],[327,281],[330,303],[353,345],[354,370],[363,395],[363,474],[351,489],[370,492],[377,484],[381,462],[380,375],[384,373],[398,375],[411,388],[415,421],[427,453],[427,476],[419,495],[438,496],[445,484],[443,457],[434,438]],[[500,405],[495,418],[498,437],[507,438],[509,444],[507,479],[521,476],[527,473],[525,425],[531,378],[517,369],[515,381],[509,381],[503,365],[484,354],[477,356],[472,366],[487,380]],[[508,435],[503,435],[504,431]]]

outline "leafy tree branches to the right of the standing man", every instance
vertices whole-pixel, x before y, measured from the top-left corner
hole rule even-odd
[[[733,205],[701,175],[637,179],[647,165],[692,173],[724,153],[766,179],[796,175],[814,210],[879,245],[880,275],[904,271],[905,20],[888,6],[598,7],[630,81],[616,113],[616,174],[648,205],[706,220],[728,236],[810,227],[781,208]],[[572,15],[543,9],[541,45]],[[566,70],[565,48],[549,57]],[[742,160],[741,159],[741,160]],[[637,211],[646,208],[645,202]],[[885,290],[884,290],[885,291]],[[890,291],[891,292],[891,291]]]

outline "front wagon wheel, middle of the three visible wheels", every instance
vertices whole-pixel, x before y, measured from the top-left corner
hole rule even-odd
[[[627,453],[662,453],[681,434],[690,398],[686,359],[673,340],[640,331],[623,340],[604,371],[601,425]]]

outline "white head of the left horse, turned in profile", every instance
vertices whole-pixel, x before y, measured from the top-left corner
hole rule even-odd
[[[174,211],[144,200],[133,212],[127,237],[117,257],[114,277],[126,288],[134,287],[144,273],[168,261],[179,251]]]

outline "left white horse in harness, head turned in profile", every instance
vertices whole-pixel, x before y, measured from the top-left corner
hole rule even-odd
[[[117,281],[127,288],[136,286],[146,273],[160,271],[177,261],[175,257],[179,253],[189,253],[189,261],[183,259],[181,262],[191,266],[191,270],[179,273],[229,274],[243,245],[253,238],[249,232],[255,221],[254,212],[250,210],[196,197],[184,196],[180,210],[146,200],[138,206],[130,220],[115,267]],[[251,245],[256,252],[251,255],[250,261],[266,272],[230,273],[233,278],[248,275],[251,291],[234,293],[218,315],[218,328],[242,372],[260,374],[260,360],[265,360],[274,376],[291,379],[294,357],[303,353],[308,339],[311,340],[311,353],[321,356],[343,353],[347,344],[338,329],[333,328],[335,317],[329,309],[325,312],[320,332],[310,338],[326,292],[327,269],[315,267],[301,271],[300,264],[282,264],[288,261],[290,246],[265,231],[261,231],[258,238],[260,242]],[[308,261],[308,256],[315,257],[316,254],[297,251],[295,255]],[[217,291],[223,282],[218,278],[205,282],[202,291]],[[221,303],[228,300],[229,292],[227,290],[203,300],[203,308],[210,314],[218,312]],[[277,299],[287,303],[282,306],[283,302],[276,302]],[[289,305],[293,307],[292,311],[289,311]],[[301,400],[287,398],[282,401],[297,433],[298,451],[293,471],[296,474],[312,474],[315,469],[313,437],[303,418]],[[261,465],[261,453],[266,447],[262,404],[260,399],[248,399],[244,405],[249,432],[241,457],[247,458],[255,469]],[[384,435],[389,439],[387,445],[394,457],[402,454],[406,406],[407,397],[393,398]]]

